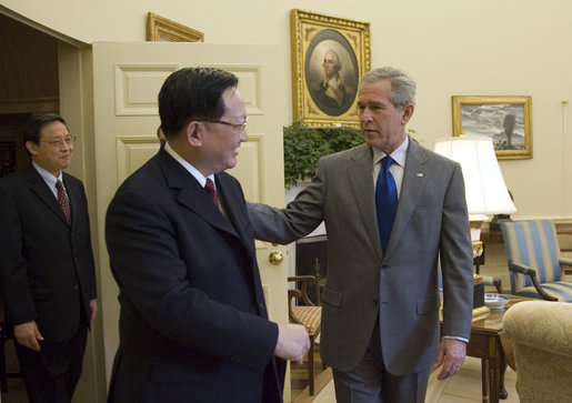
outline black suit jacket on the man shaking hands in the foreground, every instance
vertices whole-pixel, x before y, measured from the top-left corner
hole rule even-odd
[[[254,239],[238,181],[215,175],[228,219],[167,151],[119,188],[106,240],[121,304],[109,401],[278,402]]]

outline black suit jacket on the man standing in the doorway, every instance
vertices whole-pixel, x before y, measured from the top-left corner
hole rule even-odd
[[[88,205],[80,180],[63,173],[71,225],[30,164],[0,180],[0,290],[10,324],[34,320],[46,341],[71,339],[97,298]],[[83,311],[83,312],[81,312]]]

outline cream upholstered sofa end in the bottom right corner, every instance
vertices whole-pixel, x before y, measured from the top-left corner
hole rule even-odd
[[[503,318],[513,345],[516,392],[523,403],[572,399],[572,304],[524,301]]]

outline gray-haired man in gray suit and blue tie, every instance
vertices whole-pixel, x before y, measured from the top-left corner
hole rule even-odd
[[[254,235],[265,241],[289,243],[325,222],[320,347],[338,402],[423,402],[431,366],[442,365],[442,380],[465,357],[473,280],[463,177],[458,163],[405,134],[414,104],[409,75],[368,72],[358,91],[365,144],[321,159],[285,209],[249,204]],[[377,202],[375,188],[387,155],[398,205],[382,246],[378,220],[388,225],[387,205]]]

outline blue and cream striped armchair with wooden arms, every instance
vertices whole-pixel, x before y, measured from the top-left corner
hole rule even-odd
[[[561,256],[552,221],[503,222],[502,234],[513,295],[572,302],[572,283],[564,281],[572,259]]]

